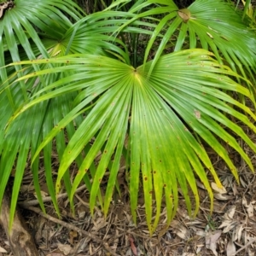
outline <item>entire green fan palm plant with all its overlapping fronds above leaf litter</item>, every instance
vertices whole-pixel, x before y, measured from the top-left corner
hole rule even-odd
[[[211,202],[206,169],[222,186],[203,143],[224,159],[237,181],[224,143],[253,171],[235,138],[256,152],[235,121],[256,131],[256,115],[246,104],[255,104],[256,69],[256,37],[247,20],[222,0],[196,0],[188,9],[177,9],[167,0],[128,2],[115,1],[91,15],[84,15],[71,0],[16,0],[15,8],[5,10],[0,20],[0,201],[15,166],[12,217],[28,159],[44,209],[40,155],[56,212],[60,189],[67,190],[73,209],[73,195],[84,182],[91,211],[98,201],[105,214],[113,190],[119,190],[116,177],[125,158],[131,214],[136,222],[142,184],[151,233],[163,201],[168,224],[172,221],[178,187],[195,216],[200,203],[196,178]],[[53,147],[60,160],[56,180]],[[79,170],[72,179],[73,162]]]

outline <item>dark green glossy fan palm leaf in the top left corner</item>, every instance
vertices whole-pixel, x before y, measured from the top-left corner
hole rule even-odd
[[[31,47],[32,41],[38,48],[41,55],[48,57],[48,53],[38,36],[38,32],[43,32],[48,37],[56,37],[62,35],[72,25],[72,22],[64,15],[73,17],[78,20],[81,15],[77,11],[77,5],[73,1],[57,0],[55,3],[52,1],[24,1],[16,0],[11,9],[5,11],[2,19],[0,20],[0,50],[9,50],[9,55],[12,61],[20,61],[20,49],[26,52],[28,59],[35,59],[36,55]],[[61,12],[62,11],[62,12]],[[1,65],[7,64],[1,55]],[[16,70],[19,67],[15,67]],[[38,67],[34,67],[38,70]],[[0,69],[0,79],[7,81],[8,75],[4,68]],[[9,85],[6,83],[7,96],[11,107],[15,108],[12,96],[9,91]],[[26,85],[20,84],[23,91],[24,99],[26,96]]]

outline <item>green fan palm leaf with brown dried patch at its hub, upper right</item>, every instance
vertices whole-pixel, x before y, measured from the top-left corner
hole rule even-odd
[[[165,7],[152,8],[132,20],[147,18],[148,15],[163,14],[164,10],[167,13],[156,26],[148,42],[144,62],[147,61],[155,40],[158,39],[160,33],[164,34],[148,75],[171,41],[175,51],[196,47],[211,49],[219,63],[229,63],[233,71],[241,73],[244,78],[251,79],[253,84],[256,83],[254,76],[256,50],[253,47],[256,45],[255,34],[247,28],[246,23],[242,22],[241,15],[234,11],[230,3],[224,0],[196,0],[188,9],[181,10],[177,9],[173,1],[154,0],[146,3],[142,3],[140,8],[150,3],[165,5]],[[137,7],[137,9],[140,8]],[[126,25],[130,23],[131,20],[127,21]],[[124,27],[125,25],[121,26],[119,30]],[[255,88],[251,84],[247,86],[255,96]]]

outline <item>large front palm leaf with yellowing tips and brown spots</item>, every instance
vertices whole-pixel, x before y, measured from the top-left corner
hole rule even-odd
[[[124,148],[129,149],[127,154],[130,157],[126,158],[126,164],[130,166],[131,212],[136,222],[137,195],[142,178],[147,223],[151,233],[159,222],[162,201],[166,203],[168,224],[175,215],[177,186],[181,188],[189,214],[195,216],[199,208],[195,174],[208,190],[211,202],[213,196],[206,168],[221,187],[201,140],[224,159],[236,179],[236,166],[219,139],[235,148],[252,170],[253,166],[236,139],[223,127],[229,128],[256,151],[254,143],[228,118],[229,115],[233,116],[256,131],[247,117],[256,119],[250,108],[224,92],[235,91],[253,100],[249,90],[230,79],[230,76],[236,79],[241,77],[229,67],[219,65],[212,54],[204,49],[188,49],[162,56],[153,68],[152,62],[136,69],[108,56],[67,55],[38,60],[38,64],[62,63],[64,66],[27,74],[17,79],[17,82],[44,77],[49,73],[61,72],[62,77],[32,96],[32,101],[15,113],[10,123],[10,128],[18,125],[20,116],[29,109],[38,108],[42,102],[69,96],[77,91],[78,96],[73,102],[72,110],[63,114],[55,128],[45,134],[33,160],[37,160],[40,151],[68,124],[82,115],[84,119],[77,123],[77,131],[70,137],[67,148],[61,155],[55,183],[56,192],[61,188],[61,180],[67,175],[68,167],[86,148],[86,155],[73,180],[69,198],[72,200],[84,175],[89,174],[93,177],[90,189],[90,209],[93,211],[104,173],[109,168],[108,187],[103,201],[104,212],[107,214],[121,155]],[[22,65],[31,63],[32,61],[21,62]],[[186,76],[181,75],[184,71]],[[149,78],[148,73],[151,73]],[[231,106],[236,106],[247,115]],[[129,137],[128,145],[125,145],[125,136]],[[95,172],[95,166],[92,168],[92,165],[99,152],[102,157]],[[195,204],[191,201],[191,193],[195,197]],[[154,200],[156,212],[152,207]],[[194,209],[192,205],[195,205]],[[155,219],[152,223],[153,215]]]

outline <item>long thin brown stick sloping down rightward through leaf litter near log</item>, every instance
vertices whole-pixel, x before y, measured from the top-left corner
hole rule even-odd
[[[22,205],[22,207],[24,207]],[[49,219],[50,221],[56,223],[56,224],[60,224],[61,226],[67,228],[68,230],[75,230],[77,232],[79,232],[80,234],[83,234],[84,236],[88,236],[90,237],[90,239],[100,243],[103,245],[103,247],[108,251],[108,253],[110,253],[111,255],[113,256],[118,256],[118,254],[114,253],[113,250],[108,246],[108,243],[107,242],[104,242],[102,241],[102,238],[96,236],[96,235],[93,235],[91,234],[90,232],[87,232],[87,231],[84,231],[84,230],[81,230],[79,229],[78,227],[76,227],[75,225],[73,224],[68,224],[64,221],[62,221],[61,219],[58,219],[58,218],[54,218],[52,216],[50,216],[49,214],[46,214],[44,212],[42,212],[39,208],[37,207],[24,207],[26,208],[27,210],[30,210],[32,212],[36,212],[38,213],[40,216],[44,217],[44,218],[47,218]]]

